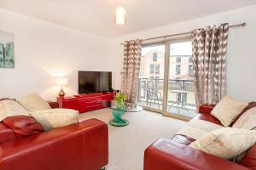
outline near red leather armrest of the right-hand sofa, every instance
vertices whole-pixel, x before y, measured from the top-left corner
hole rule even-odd
[[[172,139],[159,139],[145,150],[144,170],[155,169],[248,170],[247,167],[195,150]]]

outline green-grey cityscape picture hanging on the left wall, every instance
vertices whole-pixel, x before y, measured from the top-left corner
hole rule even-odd
[[[15,68],[15,34],[0,31],[0,68]]]

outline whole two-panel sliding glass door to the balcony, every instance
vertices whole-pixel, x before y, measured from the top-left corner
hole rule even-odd
[[[166,116],[195,116],[192,45],[188,39],[143,46],[138,105]]]

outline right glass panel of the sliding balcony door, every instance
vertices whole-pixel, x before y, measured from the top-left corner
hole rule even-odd
[[[166,114],[195,116],[194,67],[191,41],[169,42]]]

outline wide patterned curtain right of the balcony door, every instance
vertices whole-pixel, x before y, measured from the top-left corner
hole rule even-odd
[[[225,95],[229,24],[192,31],[197,105],[217,104]]]

